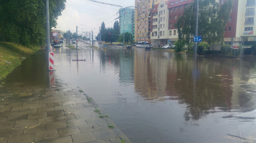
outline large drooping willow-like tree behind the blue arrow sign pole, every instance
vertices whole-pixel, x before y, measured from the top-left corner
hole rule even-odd
[[[197,0],[184,10],[175,24],[178,38],[184,39],[186,44],[195,36],[196,6]],[[226,0],[221,7],[215,0],[199,0],[198,35],[209,44],[223,41],[224,29],[232,8],[232,0]]]

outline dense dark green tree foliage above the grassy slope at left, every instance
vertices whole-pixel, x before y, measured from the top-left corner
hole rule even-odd
[[[66,0],[49,1],[50,27],[57,25],[57,18],[65,9]],[[43,45],[45,32],[45,1],[11,0],[0,4],[0,41],[16,44]]]

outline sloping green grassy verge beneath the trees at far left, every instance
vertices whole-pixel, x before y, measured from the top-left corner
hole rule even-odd
[[[40,49],[40,46],[25,47],[9,42],[0,42],[0,81],[26,59],[26,56]]]

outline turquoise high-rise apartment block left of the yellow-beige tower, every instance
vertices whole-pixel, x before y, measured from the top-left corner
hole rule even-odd
[[[129,32],[134,35],[134,8],[119,9],[120,33]]]

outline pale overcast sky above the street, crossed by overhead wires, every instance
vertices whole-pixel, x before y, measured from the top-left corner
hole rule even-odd
[[[99,33],[99,27],[104,21],[105,27],[113,27],[118,16],[118,10],[121,7],[111,6],[108,4],[120,5],[122,7],[134,6],[134,0],[97,0],[107,4],[100,4],[89,0],[67,0],[66,9],[63,10],[62,16],[58,17],[57,30],[76,32],[78,34],[84,31],[93,30],[93,34]],[[119,19],[117,19],[119,21]],[[53,27],[53,29],[55,29]]]

